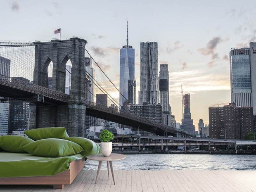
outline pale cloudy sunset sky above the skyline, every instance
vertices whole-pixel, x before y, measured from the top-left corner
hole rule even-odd
[[[86,48],[119,86],[119,50],[135,48],[140,81],[140,42],[156,41],[159,65],[168,64],[170,104],[181,121],[181,88],[190,93],[194,125],[209,123],[208,108],[230,102],[229,52],[256,41],[256,2],[247,0],[0,0],[0,40],[88,41]]]

